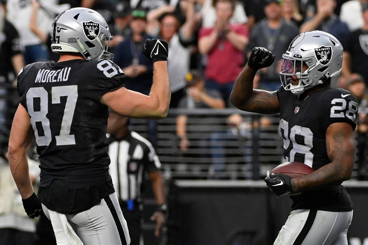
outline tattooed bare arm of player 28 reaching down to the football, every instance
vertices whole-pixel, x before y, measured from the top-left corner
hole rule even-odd
[[[350,179],[355,157],[351,125],[332,123],[326,131],[326,150],[331,162],[311,174],[291,179],[293,192],[323,188]]]

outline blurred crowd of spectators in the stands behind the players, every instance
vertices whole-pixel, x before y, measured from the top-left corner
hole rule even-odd
[[[276,59],[258,71],[254,88],[277,90],[282,54],[294,37],[314,29],[331,33],[344,47],[343,71],[332,85],[350,90],[360,103],[357,179],[368,179],[368,0],[0,0],[1,142],[7,141],[18,105],[17,73],[32,62],[58,60],[50,50],[51,25],[71,7],[92,8],[106,19],[114,36],[109,51],[123,69],[128,89],[149,93],[153,65],[143,54],[143,42],[156,37],[167,41],[170,108],[179,109],[232,108],[231,89],[255,46],[268,48]],[[229,118],[227,122],[239,120]],[[185,114],[176,119],[183,152],[190,148],[187,120]],[[257,125],[268,123],[259,120]],[[156,122],[148,125],[155,132]],[[218,148],[216,143],[212,149]]]

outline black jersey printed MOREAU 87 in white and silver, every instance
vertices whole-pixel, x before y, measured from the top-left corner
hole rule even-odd
[[[40,155],[40,186],[62,179],[70,190],[106,183],[110,163],[103,94],[124,86],[109,60],[36,62],[18,75],[20,103],[31,117]]]

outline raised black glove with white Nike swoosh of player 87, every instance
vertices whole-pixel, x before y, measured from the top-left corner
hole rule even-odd
[[[150,58],[153,63],[156,61],[167,61],[169,47],[167,42],[160,39],[146,39],[143,45],[143,53]]]

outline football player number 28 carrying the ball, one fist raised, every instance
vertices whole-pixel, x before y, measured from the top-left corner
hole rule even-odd
[[[255,47],[233,87],[231,103],[237,108],[280,113],[285,162],[302,162],[315,170],[297,178],[266,177],[278,196],[290,194],[293,200],[274,244],[347,245],[353,205],[341,183],[353,169],[358,104],[349,91],[330,87],[340,74],[342,52],[340,42],[326,32],[301,33],[283,54],[282,86],[264,91],[253,89],[253,78],[275,56]]]

